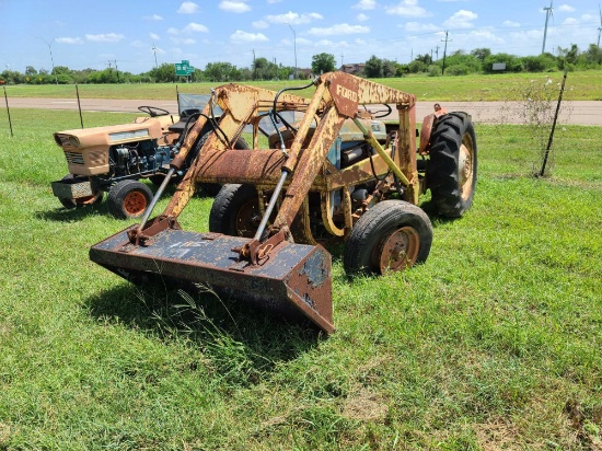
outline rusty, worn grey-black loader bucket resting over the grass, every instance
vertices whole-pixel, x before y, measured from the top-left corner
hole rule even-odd
[[[263,264],[251,265],[239,262],[233,251],[247,243],[246,238],[167,229],[147,245],[134,245],[127,232],[135,228],[92,246],[90,259],[135,284],[144,275],[208,284],[218,292],[334,331],[331,254],[322,246],[285,241]]]

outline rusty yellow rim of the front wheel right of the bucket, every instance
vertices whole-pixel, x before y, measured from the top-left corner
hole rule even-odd
[[[372,254],[372,263],[381,271],[400,271],[412,266],[418,256],[420,236],[413,227],[402,227],[383,240]]]

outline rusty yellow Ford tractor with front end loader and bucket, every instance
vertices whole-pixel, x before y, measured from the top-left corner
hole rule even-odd
[[[310,100],[291,92],[310,86]],[[350,274],[403,270],[430,252],[432,227],[417,206],[421,193],[430,188],[444,216],[461,216],[472,204],[471,117],[427,116],[417,148],[415,103],[412,94],[343,72],[278,93],[217,88],[141,223],[92,246],[90,257],[135,284],[208,284],[332,333],[331,254],[324,246],[345,242]],[[390,105],[398,120],[378,120],[392,112]],[[165,210],[149,220],[217,106],[219,126]],[[252,149],[235,149],[245,130],[253,134]],[[209,232],[183,231],[178,215],[200,183],[223,185]]]

